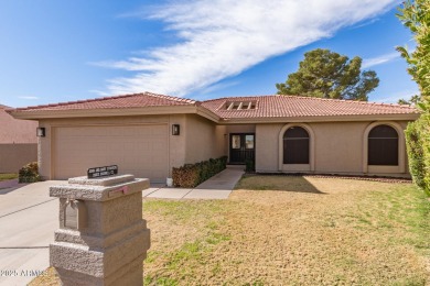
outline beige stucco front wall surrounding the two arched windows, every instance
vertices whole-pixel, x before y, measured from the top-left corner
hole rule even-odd
[[[313,173],[363,174],[364,133],[373,122],[321,122],[308,123],[314,134],[314,170]],[[406,129],[407,122],[396,122]],[[257,172],[280,172],[279,135],[288,124],[258,124],[256,128],[256,169]],[[406,166],[406,152],[401,156],[405,172],[399,175],[409,176]],[[374,175],[373,173],[367,173]]]

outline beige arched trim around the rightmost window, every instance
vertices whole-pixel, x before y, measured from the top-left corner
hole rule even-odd
[[[384,166],[384,165],[368,165],[368,135],[370,131],[378,125],[388,125],[394,128],[398,135],[398,165],[397,166]],[[404,129],[397,122],[391,121],[377,121],[367,125],[363,134],[363,173],[374,174],[389,174],[389,173],[405,173],[406,172],[406,146],[405,146],[405,132]]]

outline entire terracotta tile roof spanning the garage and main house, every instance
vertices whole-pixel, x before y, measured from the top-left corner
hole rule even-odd
[[[255,109],[227,110],[227,103],[254,102]],[[376,103],[365,101],[322,99],[299,96],[254,96],[229,97],[206,101],[155,95],[151,92],[105,97],[98,99],[62,102],[55,105],[18,108],[13,111],[61,111],[94,109],[127,109],[166,106],[201,106],[222,119],[252,118],[295,118],[295,117],[331,117],[331,116],[378,116],[410,114],[419,111],[410,106]],[[254,106],[252,106],[254,107]]]

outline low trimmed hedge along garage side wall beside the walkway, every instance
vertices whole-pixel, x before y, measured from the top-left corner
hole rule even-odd
[[[173,168],[173,186],[181,188],[194,188],[212,176],[226,168],[227,157],[211,158],[196,164],[185,164]]]

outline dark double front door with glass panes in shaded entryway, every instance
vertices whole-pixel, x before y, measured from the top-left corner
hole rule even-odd
[[[245,164],[255,157],[255,133],[230,134],[230,164]]]

